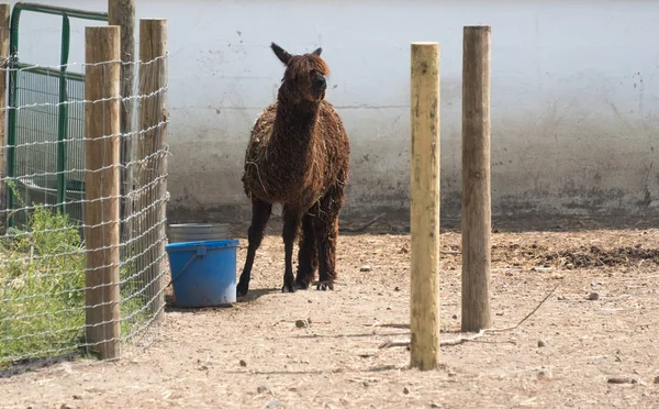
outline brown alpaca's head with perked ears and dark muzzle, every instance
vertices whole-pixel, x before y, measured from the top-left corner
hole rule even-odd
[[[327,89],[325,77],[330,74],[330,67],[321,58],[322,48],[316,48],[309,54],[291,55],[275,43],[270,46],[286,66],[282,90],[294,102],[317,102],[325,98]]]

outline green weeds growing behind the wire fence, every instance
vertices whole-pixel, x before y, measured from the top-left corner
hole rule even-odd
[[[0,239],[0,368],[85,344],[86,256],[79,225],[36,206],[22,229]],[[122,259],[131,252],[122,251]],[[122,338],[149,318],[136,264],[120,270]]]

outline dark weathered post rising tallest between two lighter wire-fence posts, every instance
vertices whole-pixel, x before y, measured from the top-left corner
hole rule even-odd
[[[134,93],[135,85],[135,0],[108,0],[108,24],[119,25],[121,27],[121,95],[131,97]],[[126,100],[121,104],[121,133],[129,134],[133,130],[133,100]],[[121,141],[121,163],[126,164],[133,161],[133,137],[123,137]],[[127,195],[133,188],[133,167],[126,166],[121,169],[121,196],[122,217],[132,211],[133,203]],[[132,225],[125,225],[129,229],[127,240],[132,239]]]

